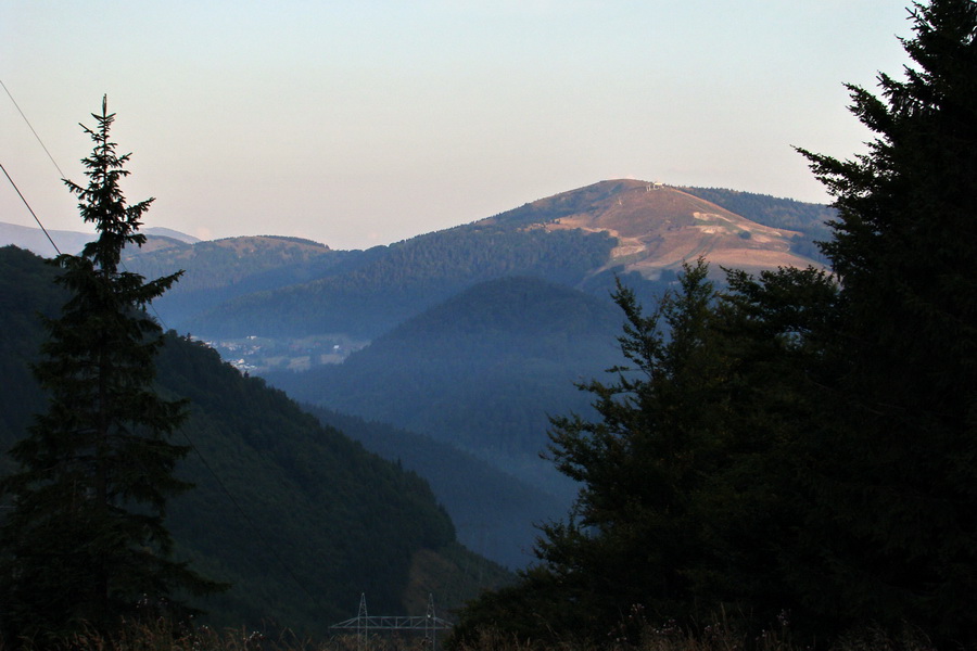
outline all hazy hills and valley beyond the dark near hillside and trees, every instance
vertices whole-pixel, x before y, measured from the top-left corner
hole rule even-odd
[[[459,539],[518,566],[529,559],[532,521],[560,516],[573,493],[540,460],[547,416],[586,413],[574,382],[620,362],[616,279],[650,306],[683,261],[700,256],[718,276],[721,266],[820,265],[814,241],[827,239],[833,216],[788,199],[612,180],[367,251],[150,231],[125,263],[148,277],[186,269],[154,304],[166,326],[213,342],[240,337],[236,363],[320,409],[323,422],[345,412],[363,419],[346,423],[360,433],[392,425],[357,438],[390,459],[413,459]],[[333,341],[372,343],[337,366],[320,362],[347,353],[313,350],[313,340],[330,349]],[[482,478],[435,478],[431,463],[416,462],[416,449],[431,446],[451,446],[440,448],[448,463],[467,468],[453,454],[477,458],[485,465],[471,473]],[[520,497],[499,506],[504,493]],[[486,531],[505,536],[488,541]]]

